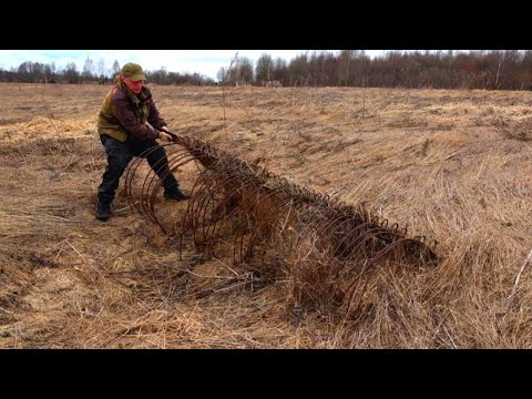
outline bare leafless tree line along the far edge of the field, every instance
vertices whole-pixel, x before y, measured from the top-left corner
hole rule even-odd
[[[364,50],[309,51],[286,61],[264,53],[254,63],[236,58],[222,68],[216,78],[200,73],[168,72],[165,68],[146,71],[149,82],[177,85],[269,85],[350,86],[407,89],[532,89],[532,50],[387,51],[371,59]],[[25,61],[18,68],[0,69],[0,81],[25,83],[111,83],[120,73],[114,61],[110,69],[103,60],[89,57],[83,69],[71,62]]]

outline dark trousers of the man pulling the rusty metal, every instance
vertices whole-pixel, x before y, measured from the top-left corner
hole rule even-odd
[[[110,204],[114,198],[114,193],[119,187],[120,177],[124,173],[127,164],[133,156],[141,154],[150,147],[156,146],[147,156],[147,163],[160,178],[163,178],[163,187],[173,191],[178,187],[178,183],[172,173],[168,173],[168,158],[166,152],[155,140],[136,140],[130,137],[126,142],[121,142],[106,134],[100,135],[100,141],[108,153],[108,166],[103,173],[102,184],[98,187],[98,198],[102,203]],[[144,156],[143,156],[144,157]]]

